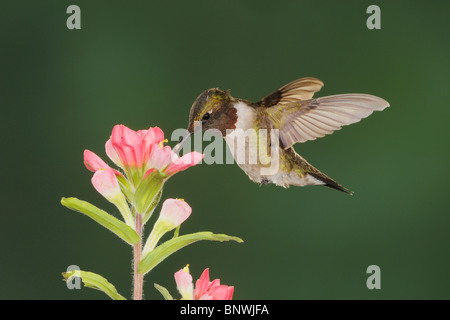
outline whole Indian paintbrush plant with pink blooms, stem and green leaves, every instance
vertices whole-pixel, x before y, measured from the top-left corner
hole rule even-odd
[[[166,142],[164,133],[158,127],[134,131],[124,125],[114,126],[105,150],[119,170],[111,168],[94,152],[84,151],[84,164],[89,171],[94,172],[92,185],[119,209],[125,223],[89,202],[74,197],[61,199],[62,205],[92,218],[133,246],[133,298],[136,300],[142,299],[144,275],[186,245],[198,240],[242,242],[237,237],[212,232],[178,236],[177,229],[172,239],[156,247],[165,233],[178,228],[190,216],[191,207],[181,199],[164,201],[159,218],[145,241],[143,226],[161,199],[164,183],[175,173],[196,165],[203,158],[203,154],[198,152],[178,157],[171,147],[164,146]],[[233,287],[220,286],[216,280],[209,283],[209,277],[205,280],[202,275],[203,280],[197,281],[198,287],[202,288],[201,293],[197,293],[189,272],[178,274],[176,278],[180,290],[186,284],[182,292],[186,299],[194,298],[194,295],[202,299],[231,298]],[[63,276],[66,281],[71,281],[72,277],[81,277],[85,286],[99,289],[113,299],[124,299],[112,284],[98,274],[78,270],[65,272]],[[160,290],[167,292],[162,287]]]

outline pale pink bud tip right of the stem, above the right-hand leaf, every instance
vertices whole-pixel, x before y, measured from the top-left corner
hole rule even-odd
[[[159,220],[164,223],[168,231],[178,227],[191,215],[192,208],[186,201],[180,199],[167,199],[164,201]]]

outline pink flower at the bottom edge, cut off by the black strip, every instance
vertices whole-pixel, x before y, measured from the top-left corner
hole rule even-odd
[[[195,289],[192,286],[192,276],[186,267],[175,273],[175,282],[178,291],[185,300],[231,300],[234,287],[221,285],[220,280],[209,281],[209,269],[203,271],[200,278],[195,283]]]

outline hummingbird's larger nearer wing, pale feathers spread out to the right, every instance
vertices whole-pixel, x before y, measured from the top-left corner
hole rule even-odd
[[[369,94],[339,94],[267,108],[284,148],[315,140],[356,123],[389,103]]]

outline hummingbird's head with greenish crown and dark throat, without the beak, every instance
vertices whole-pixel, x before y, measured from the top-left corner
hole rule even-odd
[[[235,129],[237,121],[233,102],[235,99],[228,90],[214,88],[202,92],[192,104],[188,131],[217,129],[225,136],[227,129]]]

